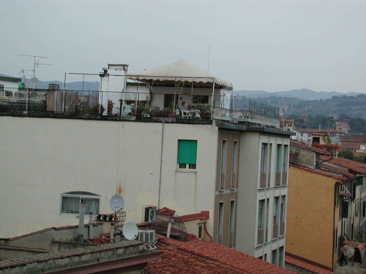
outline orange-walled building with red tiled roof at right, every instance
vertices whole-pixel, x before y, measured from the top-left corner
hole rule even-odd
[[[297,142],[291,142],[290,154],[288,261],[303,260],[332,271],[340,242],[361,239],[365,233],[366,164],[333,159],[332,153]]]

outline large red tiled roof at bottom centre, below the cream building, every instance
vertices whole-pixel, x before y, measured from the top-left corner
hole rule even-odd
[[[232,248],[207,241],[180,242],[157,235],[160,259],[149,262],[144,272],[157,273],[245,273],[295,274]]]

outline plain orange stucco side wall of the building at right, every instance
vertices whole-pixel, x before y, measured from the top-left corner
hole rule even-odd
[[[332,267],[336,179],[290,166],[286,252]]]

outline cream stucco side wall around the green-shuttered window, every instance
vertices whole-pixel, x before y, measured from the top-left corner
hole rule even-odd
[[[158,205],[162,123],[0,117],[0,237],[78,224],[60,215],[60,194],[124,197],[126,221],[141,222],[142,206]],[[217,128],[164,124],[160,206],[184,215],[213,214]],[[178,139],[198,140],[197,172],[176,171]],[[87,217],[85,223],[87,223]],[[207,220],[213,232],[213,218]]]

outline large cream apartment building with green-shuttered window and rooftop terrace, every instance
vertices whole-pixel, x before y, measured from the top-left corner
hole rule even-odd
[[[178,62],[178,71],[180,66],[191,68]],[[225,90],[231,83],[196,70],[183,80],[176,71],[167,71],[165,78],[154,71],[127,75],[150,91],[144,100],[115,94],[123,99],[115,100],[120,106],[112,115],[13,111],[1,116],[7,130],[0,137],[7,145],[0,148],[6,190],[0,206],[8,221],[0,224],[0,237],[77,223],[80,197],[87,199],[87,212],[111,213],[109,198],[117,193],[125,199],[129,221],[146,216],[149,221],[154,208],[171,208],[178,216],[208,211],[205,228],[213,241],[283,267],[292,133],[276,128],[278,117],[268,115],[273,109],[229,109]],[[151,93],[161,87],[169,91],[166,102],[165,94]],[[195,103],[195,96],[204,102]],[[142,114],[123,114],[124,107],[138,109],[142,101]],[[171,102],[187,112],[206,104],[209,117],[143,115],[146,105],[161,111],[159,103]],[[15,212],[14,199],[36,214]]]

